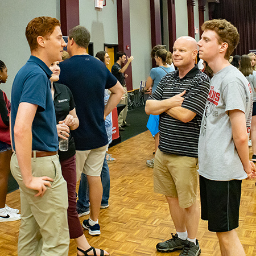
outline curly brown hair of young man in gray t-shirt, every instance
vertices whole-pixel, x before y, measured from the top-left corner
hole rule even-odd
[[[219,43],[228,43],[228,49],[226,49],[225,59],[228,60],[231,53],[237,47],[239,43],[239,34],[237,28],[225,19],[212,19],[206,21],[202,30],[213,30],[217,33]]]

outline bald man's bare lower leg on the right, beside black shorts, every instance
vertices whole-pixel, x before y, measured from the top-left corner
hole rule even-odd
[[[195,239],[200,218],[200,210],[197,202],[191,205],[191,207],[185,208],[184,213],[185,226],[187,228],[188,238]]]

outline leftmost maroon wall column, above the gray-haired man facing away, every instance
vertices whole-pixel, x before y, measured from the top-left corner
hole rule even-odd
[[[60,23],[64,36],[68,36],[69,30],[80,24],[79,0],[60,0]]]

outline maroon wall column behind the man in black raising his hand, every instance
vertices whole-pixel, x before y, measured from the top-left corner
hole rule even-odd
[[[131,56],[131,30],[130,30],[130,0],[117,0],[117,29],[118,29],[118,51]],[[136,61],[136,58],[135,60]],[[126,69],[128,75],[126,80],[127,90],[133,90],[133,77],[131,65]]]

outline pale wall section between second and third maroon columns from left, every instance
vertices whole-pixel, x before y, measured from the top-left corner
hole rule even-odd
[[[131,26],[131,63],[133,72],[133,89],[139,88],[141,80],[149,76],[152,61],[151,30],[150,30],[150,1],[130,0],[130,26]]]

